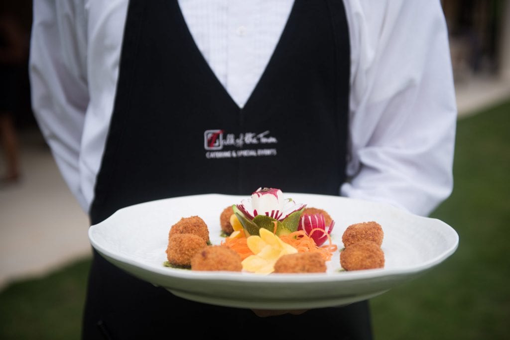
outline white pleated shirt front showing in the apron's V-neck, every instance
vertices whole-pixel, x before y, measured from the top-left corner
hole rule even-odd
[[[198,51],[240,109],[269,64],[293,5],[294,0],[177,1]]]

